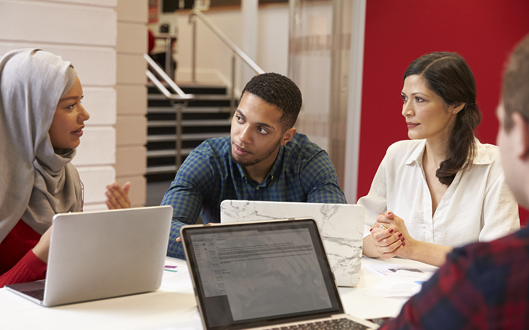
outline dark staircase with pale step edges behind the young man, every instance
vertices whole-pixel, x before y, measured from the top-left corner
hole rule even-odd
[[[225,87],[179,86],[195,100],[183,108],[181,159],[205,139],[230,135],[233,110]],[[156,87],[148,86],[147,183],[171,182],[180,164],[176,162],[176,108]],[[162,195],[163,196],[163,195]],[[160,197],[161,201],[161,197]],[[158,201],[159,203],[159,201]]]

